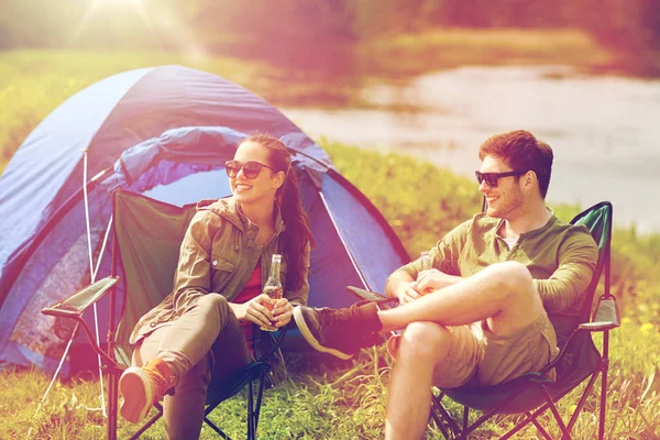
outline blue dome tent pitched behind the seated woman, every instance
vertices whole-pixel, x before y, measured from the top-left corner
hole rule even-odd
[[[318,245],[309,304],[354,302],[346,285],[383,290],[387,275],[408,261],[406,251],[326,152],[276,108],[208,73],[180,66],[131,70],[54,110],[0,177],[0,365],[56,367],[65,342],[40,310],[88,284],[96,271],[96,279],[109,273],[102,244],[113,189],[177,206],[228,196],[223,163],[255,131],[280,138],[295,153]],[[101,336],[107,300],[98,315]]]

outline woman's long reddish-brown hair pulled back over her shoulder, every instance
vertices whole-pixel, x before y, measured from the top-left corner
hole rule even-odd
[[[300,288],[304,282],[301,274],[305,272],[307,262],[301,256],[305,253],[305,248],[308,243],[314,246],[315,242],[307,212],[305,212],[300,202],[298,178],[292,165],[292,156],[282,141],[270,134],[252,134],[241,141],[241,144],[245,142],[254,142],[267,148],[270,165],[285,174],[284,185],[277,188],[276,194],[282,220],[286,224],[279,243],[288,266],[287,285],[285,287],[296,290]]]

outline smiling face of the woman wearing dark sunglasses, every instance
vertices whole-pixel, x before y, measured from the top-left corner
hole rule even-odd
[[[243,142],[237,148],[234,161],[245,164],[250,161],[273,166],[270,162],[268,150],[256,142]],[[235,177],[229,178],[231,194],[242,205],[273,202],[277,188],[284,183],[284,173],[262,167],[258,175],[250,179],[241,168]]]

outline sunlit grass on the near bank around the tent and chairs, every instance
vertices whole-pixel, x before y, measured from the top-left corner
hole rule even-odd
[[[415,158],[381,155],[323,142],[322,146],[350,180],[366,194],[394,226],[410,254],[417,254],[438,237],[479,209],[476,186],[471,179]],[[385,182],[389,185],[383,185]],[[432,209],[422,200],[433,200]],[[558,206],[556,211],[570,219],[580,210]],[[427,230],[428,229],[428,230]],[[615,292],[624,307],[623,327],[612,333],[610,377],[606,432],[608,439],[656,439],[660,436],[660,314],[657,300],[657,267],[660,242],[656,235],[638,237],[618,229],[614,243]],[[651,271],[652,272],[652,271]],[[654,271],[657,273],[657,271]],[[634,283],[629,285],[628,283]],[[630,287],[632,286],[632,287]],[[632,293],[632,294],[631,294]],[[644,310],[644,312],[640,312]],[[600,346],[596,337],[596,346]],[[258,427],[262,439],[380,439],[383,438],[386,387],[391,360],[383,348],[365,350],[349,363],[315,364],[316,358],[288,354],[292,380],[266,392]],[[0,415],[4,421],[0,438],[97,439],[105,437],[103,416],[98,409],[96,380],[56,382],[48,400],[34,417],[48,378],[36,371],[0,373]],[[600,387],[600,381],[596,382]],[[568,415],[578,399],[575,391],[559,409]],[[446,399],[447,400],[447,399]],[[455,404],[450,410],[460,414]],[[575,439],[591,440],[597,431],[597,393],[586,400],[584,414],[573,429]],[[244,436],[244,396],[223,403],[211,418],[233,438]],[[476,417],[476,414],[474,415]],[[481,428],[476,439],[491,439],[505,432],[515,417],[497,417]],[[549,416],[541,418],[551,436],[558,429]],[[119,437],[131,427],[120,421]],[[144,438],[163,438],[158,422]],[[204,439],[215,438],[205,428]],[[431,427],[427,438],[439,439]],[[526,428],[519,438],[537,438]]]

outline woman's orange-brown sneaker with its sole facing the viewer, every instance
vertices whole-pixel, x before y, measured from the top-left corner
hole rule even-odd
[[[138,424],[174,387],[175,382],[169,365],[158,358],[142,367],[127,369],[119,380],[119,392],[123,396],[119,413],[131,424]]]

